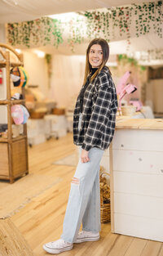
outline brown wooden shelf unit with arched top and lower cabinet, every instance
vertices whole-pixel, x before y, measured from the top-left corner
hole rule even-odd
[[[2,51],[5,48],[6,52]],[[10,51],[15,54],[18,62],[10,61]],[[18,54],[14,48],[7,44],[0,43],[0,55],[3,61],[0,61],[0,68],[6,68],[7,79],[7,99],[0,101],[0,106],[7,106],[7,138],[0,138],[0,180],[9,180],[11,183],[15,178],[22,177],[29,173],[28,160],[28,142],[27,142],[27,125],[24,125],[23,135],[19,137],[12,137],[12,117],[11,106],[14,104],[24,105],[24,88],[22,88],[22,100],[11,100],[11,80],[10,69],[14,66],[23,66],[23,55]]]

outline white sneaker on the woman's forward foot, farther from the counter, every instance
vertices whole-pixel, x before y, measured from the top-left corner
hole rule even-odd
[[[60,254],[66,250],[73,249],[73,243],[68,243],[63,239],[59,239],[43,245],[43,249],[50,254]]]

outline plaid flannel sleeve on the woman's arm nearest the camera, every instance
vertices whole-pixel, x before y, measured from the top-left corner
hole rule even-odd
[[[112,84],[110,83],[112,83],[112,81],[108,79],[107,74],[99,78],[98,95],[81,146],[83,150],[88,151],[91,147],[97,145],[99,137],[103,134],[104,126],[108,124],[112,104]]]

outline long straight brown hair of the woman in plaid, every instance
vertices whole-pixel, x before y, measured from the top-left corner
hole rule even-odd
[[[90,81],[93,81],[95,79],[96,75],[99,74],[99,72],[104,68],[104,65],[106,65],[106,63],[108,61],[109,47],[108,47],[107,41],[104,40],[103,38],[93,39],[90,42],[90,44],[89,44],[89,46],[87,47],[87,50],[86,50],[86,68],[85,68],[84,83],[86,83],[86,79],[88,77],[88,74],[90,74],[90,71],[91,71],[91,65],[90,65],[90,61],[89,61],[89,53],[90,53],[90,47],[92,47],[92,45],[94,45],[94,44],[99,44],[101,46],[102,51],[103,51],[103,62],[99,66],[98,70],[95,71],[95,74],[93,74],[91,76]],[[109,72],[110,72],[110,70],[109,70]]]

